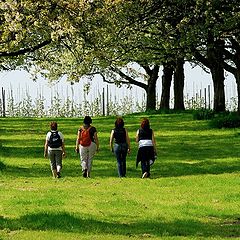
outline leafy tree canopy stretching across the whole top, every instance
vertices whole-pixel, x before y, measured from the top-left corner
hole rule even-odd
[[[100,74],[147,89],[154,68],[185,59],[209,69],[220,93],[224,76],[215,72],[239,70],[239,12],[238,0],[5,0],[0,70],[71,82]],[[224,96],[215,101],[222,104]]]

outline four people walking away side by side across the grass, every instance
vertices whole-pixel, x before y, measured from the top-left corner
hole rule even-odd
[[[142,178],[150,177],[150,166],[155,161],[157,150],[154,132],[150,128],[147,118],[141,122],[136,133],[138,152],[136,167],[141,163]],[[115,121],[115,128],[110,134],[110,150],[115,154],[119,177],[126,177],[126,158],[131,152],[130,138],[127,129],[124,127],[124,120],[118,117]],[[99,151],[99,140],[97,129],[92,126],[92,119],[86,116],[83,125],[78,129],[75,151],[79,153],[82,175],[89,178],[91,174],[92,161],[96,152]],[[52,175],[54,178],[61,177],[62,158],[66,156],[64,137],[57,129],[57,122],[50,123],[50,131],[46,135],[44,145],[44,157],[50,160]]]

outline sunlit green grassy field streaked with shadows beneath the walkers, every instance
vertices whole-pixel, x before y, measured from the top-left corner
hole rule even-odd
[[[141,179],[141,117],[124,118],[132,144],[124,179],[108,144],[114,117],[93,119],[100,151],[90,179],[74,152],[82,119],[56,119],[67,157],[52,179],[43,158],[50,119],[0,118],[0,239],[240,239],[240,130],[149,115],[158,159]]]

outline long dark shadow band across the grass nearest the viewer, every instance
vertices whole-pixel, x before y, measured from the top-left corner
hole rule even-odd
[[[201,236],[201,237],[240,237],[239,219],[221,221],[218,223],[203,223],[200,221],[175,220],[165,222],[138,221],[134,223],[120,223],[101,221],[93,218],[79,217],[66,212],[29,214],[19,219],[0,217],[0,229],[60,231],[91,234],[112,234],[123,236]],[[231,224],[230,224],[231,223]]]

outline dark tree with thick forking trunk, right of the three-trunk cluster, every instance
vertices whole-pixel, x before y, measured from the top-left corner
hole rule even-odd
[[[214,85],[214,110],[225,111],[225,41],[238,29],[239,4],[233,1],[197,1],[186,21],[186,42],[195,60],[210,70]]]

